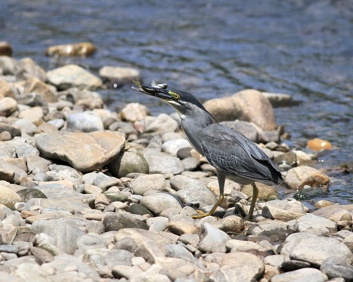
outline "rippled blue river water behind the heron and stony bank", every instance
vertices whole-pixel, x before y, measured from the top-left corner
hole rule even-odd
[[[276,108],[290,145],[329,140],[317,167],[353,161],[353,4],[350,0],[95,1],[1,0],[0,40],[14,58],[46,68],[77,63],[92,72],[105,65],[138,68],[170,89],[200,100],[246,88],[292,95],[299,106]],[[90,41],[92,58],[56,60],[56,44]],[[153,114],[173,111],[130,89],[101,94],[111,109],[146,104]],[[353,202],[351,175],[336,175],[326,199]]]

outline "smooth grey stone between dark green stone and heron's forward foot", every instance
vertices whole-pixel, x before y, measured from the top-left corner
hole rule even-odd
[[[152,212],[154,215],[159,215],[167,208],[182,209],[181,201],[173,194],[166,192],[158,192],[141,199],[140,204]]]

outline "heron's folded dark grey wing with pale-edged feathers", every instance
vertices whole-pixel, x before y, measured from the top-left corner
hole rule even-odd
[[[282,182],[282,174],[270,158],[243,134],[220,124],[208,128],[202,150],[215,168],[245,178]]]

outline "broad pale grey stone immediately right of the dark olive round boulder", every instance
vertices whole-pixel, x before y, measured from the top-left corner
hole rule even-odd
[[[150,172],[180,174],[185,170],[184,164],[169,154],[148,150],[143,154],[149,165]]]

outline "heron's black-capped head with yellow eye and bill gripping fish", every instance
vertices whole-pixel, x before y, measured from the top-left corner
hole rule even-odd
[[[134,81],[134,83],[139,86],[139,88],[132,87],[133,89],[164,100],[177,111],[181,118],[188,112],[195,112],[197,109],[206,111],[204,106],[188,92],[145,86],[141,85],[138,81]]]

